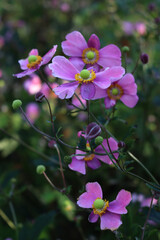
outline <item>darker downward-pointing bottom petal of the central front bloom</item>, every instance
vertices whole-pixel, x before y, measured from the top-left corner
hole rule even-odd
[[[90,100],[94,97],[95,86],[93,83],[82,83],[81,85],[81,96],[85,100]]]

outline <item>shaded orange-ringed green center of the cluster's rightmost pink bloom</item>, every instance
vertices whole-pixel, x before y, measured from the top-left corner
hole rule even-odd
[[[107,88],[107,94],[110,99],[118,100],[123,95],[123,89],[117,83],[113,83],[109,88]]]

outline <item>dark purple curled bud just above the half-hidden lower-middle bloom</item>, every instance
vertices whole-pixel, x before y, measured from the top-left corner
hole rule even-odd
[[[97,123],[92,122],[87,126],[85,137],[86,139],[90,140],[97,137],[100,133],[101,133],[100,126]]]

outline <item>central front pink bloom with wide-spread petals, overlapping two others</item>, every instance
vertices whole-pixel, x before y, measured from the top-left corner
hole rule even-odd
[[[106,89],[111,85],[111,80],[118,80],[125,71],[124,68],[117,66],[95,73],[93,69],[83,69],[80,65],[78,68],[75,67],[72,62],[62,56],[54,57],[52,63],[49,64],[49,68],[52,70],[54,77],[70,81],[70,83],[54,88],[54,92],[59,98],[71,98],[80,85],[81,96],[85,100],[94,97],[95,86]]]

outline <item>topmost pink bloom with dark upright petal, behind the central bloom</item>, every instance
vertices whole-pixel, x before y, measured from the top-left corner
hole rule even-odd
[[[121,51],[110,44],[100,49],[100,41],[97,35],[92,34],[88,43],[78,31],[66,35],[66,41],[62,42],[63,52],[70,56],[70,60],[82,68],[85,64],[102,66],[103,68],[121,66]]]

